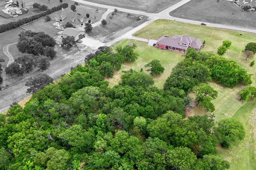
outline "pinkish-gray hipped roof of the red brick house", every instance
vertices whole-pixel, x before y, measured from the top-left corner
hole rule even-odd
[[[201,48],[202,41],[186,35],[183,35],[183,36],[175,35],[173,37],[162,37],[157,41],[157,44],[162,44],[162,45],[186,50],[188,47],[193,47],[198,49]]]

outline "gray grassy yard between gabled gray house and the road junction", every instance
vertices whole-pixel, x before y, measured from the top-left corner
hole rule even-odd
[[[107,16],[107,25],[100,24],[94,27],[90,36],[101,39],[103,43],[106,43],[146,21],[146,16],[143,16],[142,20],[137,20],[141,15],[130,14],[127,16],[127,13],[119,11],[112,19],[110,19],[111,16],[112,13]]]

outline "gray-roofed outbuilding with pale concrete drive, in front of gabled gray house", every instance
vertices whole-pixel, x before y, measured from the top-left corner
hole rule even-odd
[[[85,37],[85,31],[77,28],[65,28],[63,31],[57,33],[56,43],[61,44],[63,38],[68,36],[74,37],[75,41],[81,40]]]

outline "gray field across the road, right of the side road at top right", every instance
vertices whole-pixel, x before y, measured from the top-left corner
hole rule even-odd
[[[226,0],[192,0],[170,12],[171,16],[202,22],[256,28],[256,12],[244,12]]]

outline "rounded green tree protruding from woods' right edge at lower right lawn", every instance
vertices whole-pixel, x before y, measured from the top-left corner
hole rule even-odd
[[[244,126],[235,118],[225,118],[218,122],[218,137],[221,146],[229,148],[231,143],[237,140],[243,140],[245,137]]]

